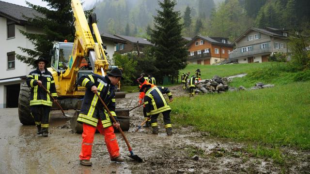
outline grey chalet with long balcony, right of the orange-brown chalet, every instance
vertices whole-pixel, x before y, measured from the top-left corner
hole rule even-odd
[[[284,29],[249,28],[233,41],[235,49],[229,55],[238,63],[267,62],[275,52],[288,53],[288,31]]]

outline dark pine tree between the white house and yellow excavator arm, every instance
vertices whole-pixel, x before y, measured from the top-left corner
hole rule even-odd
[[[33,5],[26,1],[27,5],[35,11],[42,14],[35,18],[24,16],[31,26],[40,28],[44,34],[28,33],[21,31],[21,34],[26,36],[34,45],[34,50],[19,47],[22,52],[29,56],[22,56],[16,54],[16,58],[28,65],[33,65],[34,60],[38,57],[46,58],[50,61],[49,50],[52,49],[53,41],[73,42],[74,37],[71,35],[71,1],[70,0],[44,0],[48,2],[48,6],[53,9],[49,10],[45,7]]]

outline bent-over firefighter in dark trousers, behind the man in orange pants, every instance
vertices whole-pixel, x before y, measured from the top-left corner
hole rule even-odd
[[[157,117],[160,113],[163,115],[165,129],[167,135],[172,135],[172,126],[170,119],[171,108],[166,102],[163,93],[167,94],[169,100],[172,102],[172,94],[167,87],[151,87],[150,84],[142,85],[141,89],[145,92],[143,98],[146,115],[151,118],[152,133],[158,134]]]

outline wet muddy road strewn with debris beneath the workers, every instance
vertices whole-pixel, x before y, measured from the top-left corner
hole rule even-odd
[[[170,87],[174,96],[187,95],[181,86]],[[132,108],[138,93],[117,99],[117,107]],[[17,108],[0,109],[0,174],[209,174],[209,173],[309,173],[310,151],[283,147],[285,164],[269,158],[256,158],[244,149],[247,143],[209,136],[172,123],[173,136],[166,136],[162,116],[159,134],[150,128],[133,133],[143,121],[142,107],[130,112],[130,129],[125,135],[135,155],[143,163],[127,157],[127,146],[116,133],[124,163],[110,162],[104,137],[96,133],[93,143],[92,167],[81,166],[78,155],[81,134],[72,133],[67,118],[52,111],[48,137],[36,135],[35,126],[23,126]],[[73,115],[74,111],[66,111]]]

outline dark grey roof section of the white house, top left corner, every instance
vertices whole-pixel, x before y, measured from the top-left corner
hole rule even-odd
[[[23,15],[31,18],[34,16],[43,16],[32,8],[0,1],[0,16],[9,18],[19,24],[25,24],[27,23],[27,19]]]

